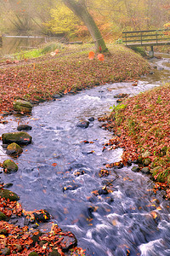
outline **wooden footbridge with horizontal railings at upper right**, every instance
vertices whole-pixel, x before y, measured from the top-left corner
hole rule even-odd
[[[150,46],[150,56],[154,56],[154,46],[170,45],[170,30],[143,30],[122,32],[123,43],[129,47],[132,46]]]

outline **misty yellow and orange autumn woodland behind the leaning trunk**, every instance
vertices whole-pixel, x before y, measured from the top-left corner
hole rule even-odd
[[[85,0],[103,38],[112,42],[122,31],[163,28],[170,20],[169,0]],[[0,34],[36,32],[88,42],[88,28],[59,0],[1,0]]]

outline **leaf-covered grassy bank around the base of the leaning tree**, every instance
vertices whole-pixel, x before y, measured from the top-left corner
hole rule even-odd
[[[68,92],[93,86],[137,79],[149,65],[139,54],[123,45],[111,45],[110,54],[89,60],[89,46],[70,46],[35,59],[4,60],[0,63],[0,113],[13,110],[13,102],[52,100]]]

